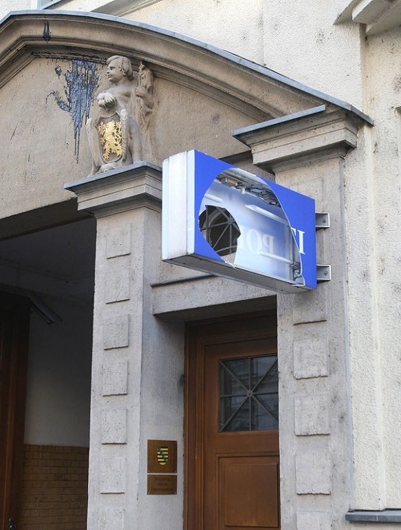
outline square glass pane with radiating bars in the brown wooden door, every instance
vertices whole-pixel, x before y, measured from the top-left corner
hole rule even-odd
[[[277,355],[219,361],[219,432],[279,428]]]

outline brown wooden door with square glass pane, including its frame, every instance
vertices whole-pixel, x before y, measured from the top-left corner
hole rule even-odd
[[[191,326],[187,530],[280,528],[274,315]]]

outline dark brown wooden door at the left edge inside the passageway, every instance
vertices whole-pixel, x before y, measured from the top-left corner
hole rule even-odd
[[[0,530],[19,520],[29,311],[28,299],[0,293]]]

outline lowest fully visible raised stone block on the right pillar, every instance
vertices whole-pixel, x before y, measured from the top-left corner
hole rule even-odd
[[[329,452],[305,451],[295,458],[296,493],[332,493],[332,458]],[[312,527],[311,527],[312,528]]]

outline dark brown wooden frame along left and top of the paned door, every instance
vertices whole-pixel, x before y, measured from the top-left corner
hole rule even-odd
[[[204,530],[204,346],[277,337],[275,310],[195,321],[186,326],[184,391],[184,530]]]

